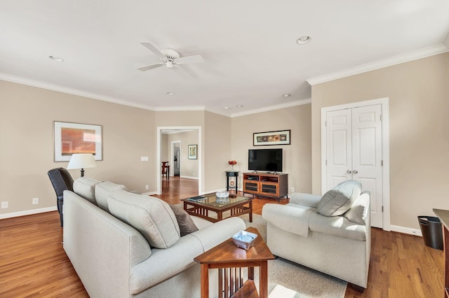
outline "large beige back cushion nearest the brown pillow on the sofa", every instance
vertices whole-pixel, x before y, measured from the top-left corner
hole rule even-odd
[[[169,248],[180,239],[180,227],[170,206],[161,199],[125,190],[107,196],[109,212],[137,229],[154,248]]]

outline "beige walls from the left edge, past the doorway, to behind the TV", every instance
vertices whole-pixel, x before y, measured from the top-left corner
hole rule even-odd
[[[156,164],[157,127],[201,127],[201,140],[197,142],[198,136],[194,136],[195,141],[187,141],[182,155],[189,162],[187,145],[198,143],[201,159],[195,162],[202,161],[203,193],[225,188],[229,159],[239,161],[236,169],[247,170],[253,132],[292,129],[292,145],[283,146],[284,172],[289,173],[289,183],[297,191],[311,190],[310,105],[227,118],[206,111],[147,111],[0,81],[0,200],[9,205],[0,209],[0,215],[55,208],[55,192],[47,171],[68,164],[53,162],[55,120],[102,125],[103,160],[97,168],[86,169],[86,176],[122,183],[139,192],[156,192],[156,175],[161,169]],[[167,146],[168,137],[167,141],[164,138]],[[168,148],[161,147],[167,159]],[[141,162],[143,156],[149,161]],[[198,176],[199,170],[185,175]],[[70,173],[73,178],[79,177],[79,170]],[[39,197],[38,205],[32,205],[34,197]]]

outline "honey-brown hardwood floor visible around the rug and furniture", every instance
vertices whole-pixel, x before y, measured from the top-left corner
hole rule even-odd
[[[177,204],[198,194],[197,180],[165,179],[161,199]],[[281,200],[286,204],[288,200]],[[274,199],[254,199],[262,213]],[[62,248],[58,212],[0,220],[0,297],[88,297]],[[419,236],[372,229],[368,288],[345,297],[443,297],[443,251]],[[317,285],[319,286],[319,285]]]

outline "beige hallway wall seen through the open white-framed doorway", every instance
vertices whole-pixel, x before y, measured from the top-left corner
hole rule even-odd
[[[184,178],[198,178],[198,159],[189,159],[188,146],[198,145],[198,129],[194,129],[191,132],[180,132],[178,134],[168,134],[168,156],[171,158],[171,142],[181,141],[181,164],[180,164],[180,176]],[[168,159],[167,159],[168,160]],[[170,162],[173,165],[173,162]],[[170,169],[173,173],[173,169]]]

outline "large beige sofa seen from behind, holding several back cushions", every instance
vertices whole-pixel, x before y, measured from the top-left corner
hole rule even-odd
[[[200,297],[194,257],[246,225],[191,217],[198,231],[180,236],[170,206],[89,178],[64,192],[64,249],[91,297]],[[119,219],[120,218],[120,219]],[[159,247],[159,248],[156,248]],[[210,292],[217,271],[209,271]]]

